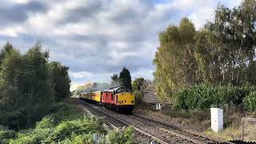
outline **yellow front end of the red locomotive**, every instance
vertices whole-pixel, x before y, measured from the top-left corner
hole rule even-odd
[[[134,106],[134,94],[130,92],[124,92],[116,94],[118,96],[117,106]]]

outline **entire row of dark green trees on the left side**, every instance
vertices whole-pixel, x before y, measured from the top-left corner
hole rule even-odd
[[[34,126],[54,102],[70,95],[69,67],[49,62],[41,43],[24,54],[7,42],[0,51],[0,125]]]

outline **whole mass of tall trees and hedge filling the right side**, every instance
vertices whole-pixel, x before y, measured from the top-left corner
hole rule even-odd
[[[256,110],[256,2],[219,5],[213,22],[195,30],[188,18],[159,34],[154,83],[176,108],[206,110],[234,104]]]

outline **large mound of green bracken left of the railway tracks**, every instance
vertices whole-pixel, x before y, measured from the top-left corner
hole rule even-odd
[[[106,134],[102,119],[84,117],[74,106],[58,103],[52,112],[34,130],[18,134],[10,143],[90,143],[92,134]]]

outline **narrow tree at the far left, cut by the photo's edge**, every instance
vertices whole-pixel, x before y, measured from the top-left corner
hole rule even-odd
[[[11,48],[12,49],[12,48]],[[5,48],[2,50],[5,51]],[[22,54],[18,50],[10,50],[2,57],[0,69],[0,124],[10,129],[19,129],[26,122],[23,95],[19,90],[19,82],[23,70]],[[25,125],[25,124],[24,124]]]

